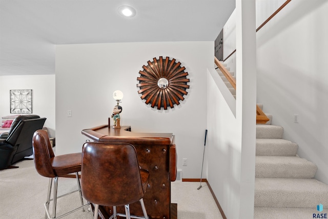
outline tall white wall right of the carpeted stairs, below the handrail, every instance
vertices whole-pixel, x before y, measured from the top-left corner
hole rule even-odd
[[[328,184],[326,21],[328,1],[291,1],[257,32],[257,99]]]

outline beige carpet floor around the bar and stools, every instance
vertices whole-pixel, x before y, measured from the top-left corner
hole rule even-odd
[[[17,169],[0,170],[0,219],[44,218],[48,178],[40,176],[32,160],[18,162]],[[206,183],[172,183],[172,203],[178,204],[178,219],[220,219],[221,214]],[[58,195],[76,188],[75,178],[59,178]],[[77,193],[60,198],[57,215],[79,205]],[[64,218],[91,219],[92,213],[76,211]]]

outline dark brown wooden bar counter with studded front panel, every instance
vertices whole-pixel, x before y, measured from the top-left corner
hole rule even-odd
[[[177,204],[171,203],[171,182],[175,181],[177,171],[176,147],[172,133],[136,133],[131,132],[130,126],[113,129],[103,125],[84,129],[82,134],[94,142],[132,144],[136,148],[140,167],[148,170],[150,174],[144,196],[149,218],[177,218]],[[139,202],[131,204],[130,211],[134,215],[143,215]],[[117,207],[117,212],[125,213],[124,207]],[[109,218],[112,208],[99,206],[99,215],[100,218]]]

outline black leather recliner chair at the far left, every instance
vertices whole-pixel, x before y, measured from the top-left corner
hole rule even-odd
[[[0,169],[6,169],[33,154],[32,136],[36,130],[42,129],[46,119],[38,115],[19,115],[15,118],[9,132],[0,136]]]

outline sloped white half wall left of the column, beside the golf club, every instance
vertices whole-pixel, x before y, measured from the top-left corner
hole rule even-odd
[[[239,218],[240,129],[208,73],[208,181],[227,218]]]

